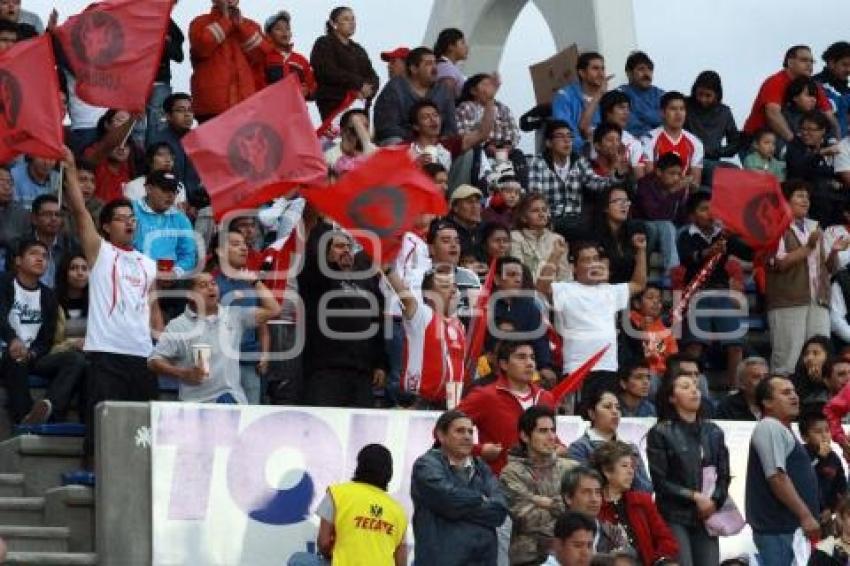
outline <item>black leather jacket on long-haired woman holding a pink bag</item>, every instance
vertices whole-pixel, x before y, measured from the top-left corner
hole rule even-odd
[[[701,522],[691,494],[702,491],[704,466],[717,468],[717,485],[711,495],[714,504],[720,509],[726,502],[732,479],[729,451],[723,431],[713,422],[659,421],[649,429],[646,456],[655,503],[668,522],[687,526]]]

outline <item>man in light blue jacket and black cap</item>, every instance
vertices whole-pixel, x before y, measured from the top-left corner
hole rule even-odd
[[[172,260],[174,273],[195,269],[197,249],[192,223],[174,206],[179,183],[164,171],[150,173],[145,180],[145,197],[133,201],[136,235],[133,247],[154,260]]]

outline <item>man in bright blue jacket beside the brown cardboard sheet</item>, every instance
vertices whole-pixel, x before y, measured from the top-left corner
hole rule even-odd
[[[589,128],[582,127],[582,115],[591,103],[593,114],[590,117],[590,127],[599,124],[599,99],[608,90],[608,78],[605,76],[605,59],[595,51],[587,51],[578,57],[576,62],[578,80],[555,93],[552,99],[552,118],[563,120],[573,132],[573,149],[581,152]],[[584,131],[583,131],[584,130]]]

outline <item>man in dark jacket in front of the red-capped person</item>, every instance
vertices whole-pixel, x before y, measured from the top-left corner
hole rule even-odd
[[[427,47],[410,51],[405,61],[407,74],[387,83],[375,102],[375,140],[379,145],[396,145],[412,137],[410,109],[422,99],[440,110],[440,136],[457,134],[452,94],[437,83],[437,60]]]

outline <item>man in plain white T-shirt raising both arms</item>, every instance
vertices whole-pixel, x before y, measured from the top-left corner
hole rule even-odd
[[[595,242],[576,242],[572,249],[574,281],[553,283],[554,266],[566,253],[563,242],[556,242],[537,281],[537,289],[550,298],[555,312],[555,327],[564,341],[565,374],[572,373],[593,354],[608,350],[585,379],[582,396],[604,387],[616,391],[617,385],[617,313],[628,309],[629,300],[646,285],[646,235],[634,234],[637,250],[635,270],[628,283],[608,284],[608,264]]]

